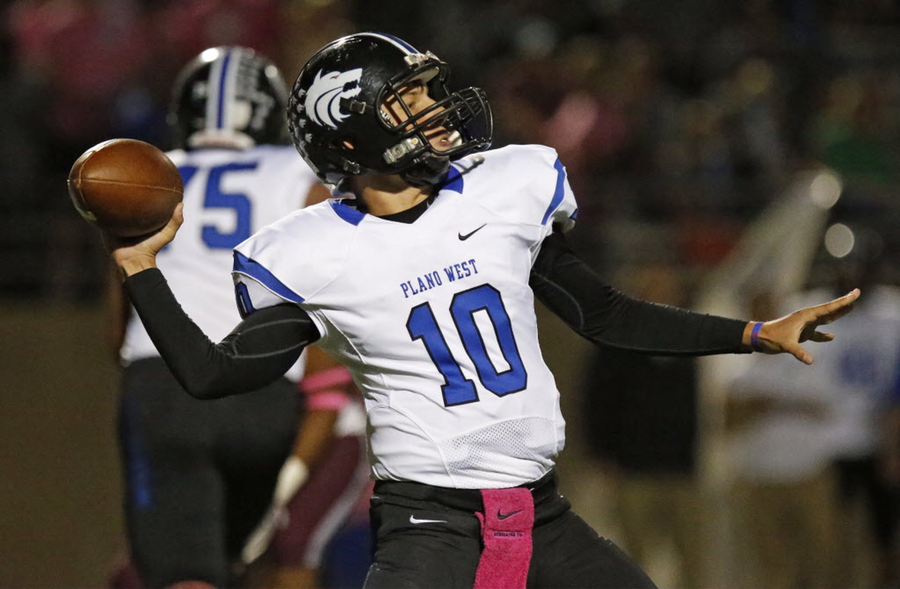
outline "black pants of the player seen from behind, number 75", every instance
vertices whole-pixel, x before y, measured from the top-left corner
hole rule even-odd
[[[272,501],[302,400],[287,379],[188,396],[160,358],[123,373],[119,433],[131,558],[144,585],[233,585],[229,564]]]

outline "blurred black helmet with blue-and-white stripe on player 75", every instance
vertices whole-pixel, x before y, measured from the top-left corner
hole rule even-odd
[[[253,49],[213,47],[181,70],[168,122],[185,149],[286,143],[286,103],[275,64]]]

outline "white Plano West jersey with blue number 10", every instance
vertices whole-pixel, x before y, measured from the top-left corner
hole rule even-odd
[[[375,478],[521,485],[563,449],[528,278],[554,223],[570,228],[576,212],[554,149],[467,156],[413,223],[336,199],[238,245],[239,303],[310,314],[365,397]]]

